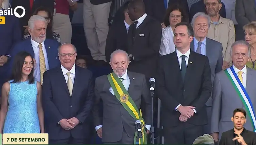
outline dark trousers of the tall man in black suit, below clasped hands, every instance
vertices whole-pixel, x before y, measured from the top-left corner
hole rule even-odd
[[[191,145],[199,136],[203,136],[203,126],[201,125],[184,122],[175,127],[164,127],[164,144]]]

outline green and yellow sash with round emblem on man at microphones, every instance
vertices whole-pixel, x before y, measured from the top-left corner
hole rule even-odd
[[[115,93],[116,98],[118,101],[123,105],[123,107],[129,112],[129,114],[136,120],[141,121],[141,130],[142,130],[142,138],[139,139],[139,144],[147,144],[147,134],[145,131],[145,122],[142,118],[141,109],[140,112],[135,105],[134,101],[130,97],[128,91],[125,89],[124,85],[122,84],[121,80],[116,76],[115,73],[110,73],[107,75],[108,81]],[[135,122],[134,122],[135,124]],[[135,132],[134,136],[134,144],[136,143],[136,139],[138,138],[138,132]]]

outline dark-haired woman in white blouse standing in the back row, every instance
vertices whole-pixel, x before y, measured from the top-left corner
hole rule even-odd
[[[166,55],[174,52],[175,45],[173,43],[173,31],[176,24],[184,21],[187,22],[188,19],[182,6],[172,5],[167,9],[164,18],[164,25],[162,25],[162,39],[159,50],[160,55]]]

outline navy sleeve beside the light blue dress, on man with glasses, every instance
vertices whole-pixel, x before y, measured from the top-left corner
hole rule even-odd
[[[52,96],[52,85],[51,77],[49,76],[49,71],[45,71],[43,74],[43,87],[42,87],[42,102],[44,113],[47,114],[51,120],[56,122],[56,124],[63,119],[63,116],[60,114],[59,110],[53,103]]]

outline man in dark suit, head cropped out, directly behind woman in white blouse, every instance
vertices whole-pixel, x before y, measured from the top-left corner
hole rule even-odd
[[[179,4],[184,8],[184,11],[186,13],[186,16],[188,16],[188,3],[187,0],[168,0],[169,2],[167,3],[167,0],[151,0],[152,1],[152,8],[151,8],[151,15],[153,18],[158,20],[160,23],[164,22],[164,16],[166,15],[166,9],[170,5],[175,5]]]

